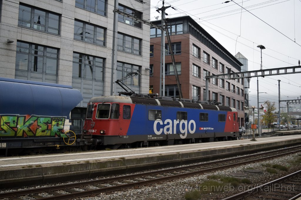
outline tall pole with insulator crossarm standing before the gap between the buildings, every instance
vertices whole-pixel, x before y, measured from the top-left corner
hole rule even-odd
[[[165,10],[171,6],[164,7],[164,0],[162,1],[162,7],[156,11],[161,11],[161,26],[165,28]],[[170,49],[171,50],[171,49]],[[163,76],[163,82],[162,82]],[[162,91],[162,94],[161,94]],[[161,31],[161,61],[160,61],[160,95],[165,95],[165,35],[164,31]]]

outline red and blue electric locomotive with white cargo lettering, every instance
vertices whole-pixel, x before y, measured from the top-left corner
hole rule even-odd
[[[239,139],[235,108],[150,94],[93,97],[84,128],[110,148]]]

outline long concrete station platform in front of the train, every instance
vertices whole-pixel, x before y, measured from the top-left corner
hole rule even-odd
[[[301,144],[301,135],[0,158],[0,188],[116,175]]]

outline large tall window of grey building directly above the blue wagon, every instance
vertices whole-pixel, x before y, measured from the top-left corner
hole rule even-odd
[[[58,49],[17,41],[16,79],[57,83]]]

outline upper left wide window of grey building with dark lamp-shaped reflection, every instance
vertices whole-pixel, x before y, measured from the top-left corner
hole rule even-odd
[[[20,4],[18,25],[47,33],[59,34],[60,15]]]

